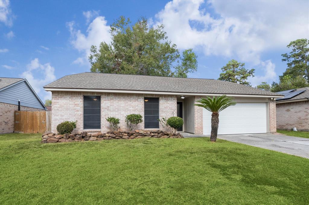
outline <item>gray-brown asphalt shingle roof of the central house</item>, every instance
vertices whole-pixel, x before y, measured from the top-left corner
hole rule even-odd
[[[79,73],[66,75],[44,88],[143,90],[186,93],[280,95],[234,82],[200,78],[172,78],[146,75]]]

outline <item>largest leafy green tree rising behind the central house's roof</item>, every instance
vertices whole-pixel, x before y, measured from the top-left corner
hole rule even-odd
[[[149,26],[141,18],[135,24],[121,16],[111,25],[111,43],[91,46],[91,72],[187,77],[197,70],[192,49],[180,55],[176,44],[167,40],[164,26]]]

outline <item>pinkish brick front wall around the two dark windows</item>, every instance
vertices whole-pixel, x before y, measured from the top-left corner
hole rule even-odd
[[[87,132],[106,132],[110,130],[105,118],[112,116],[120,119],[122,130],[128,130],[125,116],[128,114],[141,114],[144,121],[144,97],[159,98],[159,117],[169,118],[177,113],[176,95],[151,94],[118,94],[118,93],[91,93],[91,92],[52,92],[52,131],[57,132],[57,125],[66,120],[77,120],[73,132],[83,131],[83,96],[101,96],[101,129],[87,130]],[[144,122],[137,129],[144,129]],[[163,127],[160,125],[161,130]]]

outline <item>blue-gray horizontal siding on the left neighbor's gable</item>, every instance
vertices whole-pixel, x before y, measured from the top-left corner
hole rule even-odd
[[[20,82],[0,91],[0,102],[18,105],[18,100],[20,100],[21,106],[44,109],[25,82]]]

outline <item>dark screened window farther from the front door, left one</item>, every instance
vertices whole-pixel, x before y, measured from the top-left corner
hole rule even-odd
[[[101,129],[100,96],[84,96],[84,129]]]

